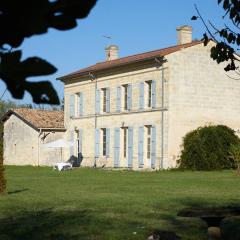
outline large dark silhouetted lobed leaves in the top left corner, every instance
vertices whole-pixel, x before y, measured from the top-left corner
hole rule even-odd
[[[39,57],[21,60],[18,48],[25,38],[47,33],[49,28],[69,30],[85,18],[97,0],[2,0],[0,2],[0,78],[16,99],[28,91],[33,102],[59,104],[49,81],[30,82],[28,77],[53,74],[56,67]],[[6,45],[10,46],[6,47]]]

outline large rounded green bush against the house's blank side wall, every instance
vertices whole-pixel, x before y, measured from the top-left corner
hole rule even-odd
[[[180,156],[180,168],[220,170],[235,167],[231,145],[239,143],[234,130],[224,126],[205,126],[186,134]]]

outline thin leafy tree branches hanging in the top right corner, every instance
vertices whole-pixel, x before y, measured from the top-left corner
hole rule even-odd
[[[240,70],[237,62],[236,51],[240,47],[240,0],[218,0],[218,4],[224,9],[225,15],[223,20],[229,18],[231,25],[224,23],[224,27],[218,28],[212,22],[204,20],[197,6],[197,16],[193,16],[192,20],[200,19],[206,27],[206,33],[203,35],[204,44],[207,45],[209,39],[213,39],[216,45],[211,48],[211,58],[217,63],[227,62],[225,71],[236,71],[240,77]]]

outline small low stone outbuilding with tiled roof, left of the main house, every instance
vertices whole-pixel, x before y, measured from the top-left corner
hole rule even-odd
[[[63,112],[19,108],[1,120],[5,165],[52,166],[61,161],[61,149],[44,144],[64,138]]]

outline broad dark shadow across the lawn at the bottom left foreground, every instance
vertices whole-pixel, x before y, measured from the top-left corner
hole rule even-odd
[[[98,216],[91,211],[22,212],[19,216],[0,218],[1,240],[102,240],[146,239],[140,222]],[[139,238],[140,235],[141,238]]]

